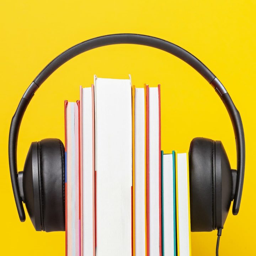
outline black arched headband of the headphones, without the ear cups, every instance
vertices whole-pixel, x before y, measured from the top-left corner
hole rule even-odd
[[[26,111],[31,98],[33,97],[39,86],[62,64],[72,59],[76,55],[86,52],[88,50],[107,46],[111,44],[140,44],[144,46],[150,46],[164,50],[171,53],[187,64],[192,66],[199,74],[201,74],[210,85],[213,86],[219,97],[222,99],[233,124],[233,129],[236,139],[236,155],[237,155],[237,178],[235,197],[233,202],[233,214],[236,215],[239,212],[242,187],[244,183],[244,171],[245,171],[245,139],[244,129],[242,126],[242,120],[238,110],[236,109],[233,101],[231,100],[228,92],[222,83],[216,78],[216,76],[196,57],[187,52],[183,48],[165,41],[160,38],[145,36],[141,34],[112,34],[107,36],[96,37],[82,43],[79,43],[62,54],[56,57],[50,62],[39,75],[34,79],[31,85],[26,90],[25,94],[21,98],[21,101],[17,107],[17,110],[12,118],[10,133],[9,133],[9,166],[11,174],[12,189],[14,192],[16,207],[21,221],[25,220],[25,212],[22,204],[22,199],[18,186],[18,174],[17,174],[17,140],[20,124],[23,114]]]

